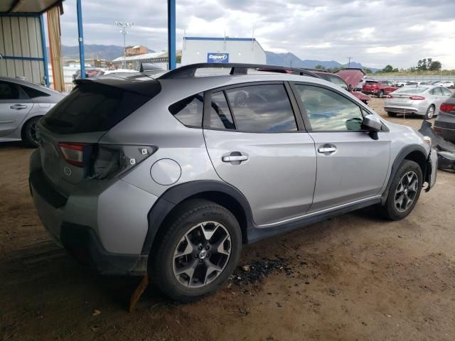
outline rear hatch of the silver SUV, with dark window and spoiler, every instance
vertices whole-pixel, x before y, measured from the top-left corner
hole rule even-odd
[[[111,161],[97,144],[101,137],[161,90],[150,79],[100,78],[77,80],[76,85],[38,124],[43,173],[65,196],[93,175],[97,159],[105,158],[105,165]]]

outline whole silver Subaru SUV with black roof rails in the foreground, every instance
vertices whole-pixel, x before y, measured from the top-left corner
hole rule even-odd
[[[306,70],[198,64],[76,84],[37,124],[38,215],[83,264],[149,274],[177,301],[220,288],[242,244],[370,205],[399,220],[436,180],[429,138]]]

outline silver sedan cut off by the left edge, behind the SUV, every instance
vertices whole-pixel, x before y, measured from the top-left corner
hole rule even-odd
[[[64,94],[19,78],[0,77],[0,142],[23,141],[38,146],[36,121]]]

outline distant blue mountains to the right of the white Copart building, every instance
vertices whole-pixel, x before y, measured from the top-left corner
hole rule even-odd
[[[314,69],[316,65],[322,65],[323,67],[348,67],[348,64],[338,63],[336,60],[312,60],[304,59],[301,60],[299,57],[294,55],[294,53],[274,53],[270,51],[265,51],[267,64],[269,65],[280,65],[280,66],[289,66],[289,67],[303,67],[306,69]],[[350,67],[357,67],[360,69],[370,69],[375,72],[375,67],[364,66],[360,63],[350,62]]]

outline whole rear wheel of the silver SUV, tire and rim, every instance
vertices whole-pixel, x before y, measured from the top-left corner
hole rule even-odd
[[[163,231],[150,255],[149,276],[174,301],[196,301],[217,291],[240,258],[240,225],[229,210],[215,202],[184,202],[165,222]]]

